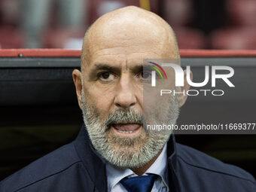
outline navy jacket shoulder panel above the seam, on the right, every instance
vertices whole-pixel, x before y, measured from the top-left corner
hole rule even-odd
[[[176,148],[178,151],[177,158],[187,166],[192,166],[196,169],[203,169],[207,172],[227,175],[239,181],[248,181],[252,184],[256,184],[255,179],[251,174],[237,166],[223,163],[221,160],[217,160],[214,157],[210,157],[201,151],[197,151],[196,149],[185,145],[177,143]]]

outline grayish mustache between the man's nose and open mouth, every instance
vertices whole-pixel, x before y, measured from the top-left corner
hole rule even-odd
[[[145,118],[142,114],[139,114],[130,108],[126,111],[121,109],[117,109],[113,113],[111,113],[108,118],[105,120],[105,127],[110,127],[111,124],[117,123],[138,123],[144,124]]]

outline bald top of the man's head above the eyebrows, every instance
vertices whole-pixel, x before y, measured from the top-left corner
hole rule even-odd
[[[125,48],[127,49],[120,49]],[[87,30],[81,56],[81,66],[99,51],[117,54],[154,53],[151,58],[178,59],[178,45],[172,28],[161,17],[142,8],[129,6],[99,17]]]

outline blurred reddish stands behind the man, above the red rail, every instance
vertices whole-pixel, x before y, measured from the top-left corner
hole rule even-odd
[[[80,49],[98,17],[144,0],[0,0],[2,48]],[[254,0],[150,0],[181,49],[255,49]]]

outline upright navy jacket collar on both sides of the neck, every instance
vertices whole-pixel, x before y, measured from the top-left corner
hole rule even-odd
[[[89,172],[90,178],[92,178],[96,188],[99,191],[107,191],[108,184],[105,170],[106,161],[93,148],[85,125],[81,127],[80,133],[78,134],[77,139],[75,139],[74,144],[78,152],[78,156],[83,161],[84,166]],[[175,169],[177,167],[175,136],[173,134],[167,142],[167,157],[169,163],[169,185],[174,186],[173,183],[176,179]],[[171,191],[175,190],[173,189]]]

